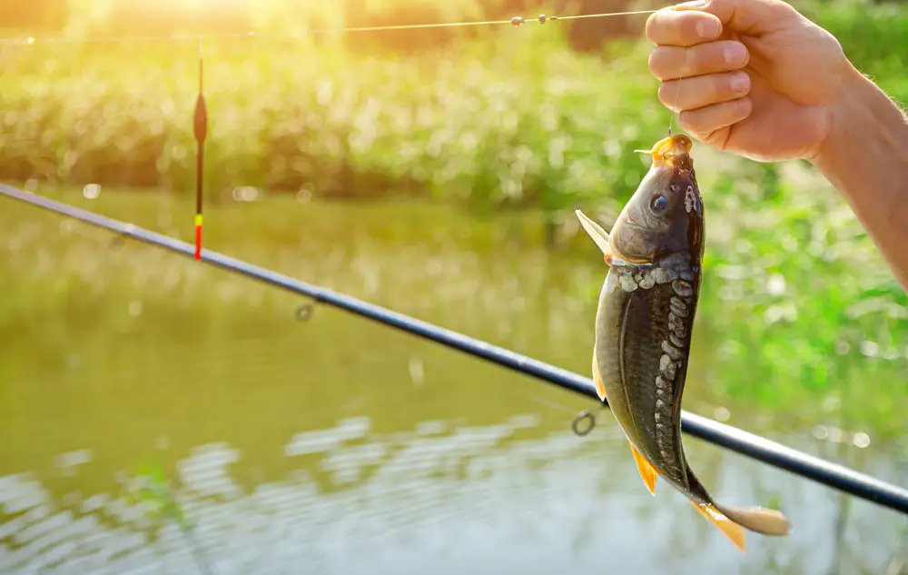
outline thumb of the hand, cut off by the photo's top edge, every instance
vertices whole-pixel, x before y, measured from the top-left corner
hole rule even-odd
[[[676,5],[674,9],[715,15],[725,30],[746,35],[775,32],[800,17],[795,8],[783,0],[694,0]]]

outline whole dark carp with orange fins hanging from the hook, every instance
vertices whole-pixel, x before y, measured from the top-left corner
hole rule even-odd
[[[655,496],[662,477],[746,552],[745,530],[785,536],[789,521],[781,511],[716,501],[690,469],[681,441],[705,248],[692,145],[675,134],[637,151],[651,154],[652,164],[611,233],[576,211],[608,265],[596,313],[593,382],[630,443],[646,489]]]

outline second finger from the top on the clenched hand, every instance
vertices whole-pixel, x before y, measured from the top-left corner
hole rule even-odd
[[[745,45],[732,40],[690,47],[658,46],[649,55],[649,72],[662,82],[743,68],[750,60]]]

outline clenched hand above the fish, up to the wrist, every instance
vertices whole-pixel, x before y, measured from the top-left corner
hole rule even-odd
[[[706,0],[646,22],[650,72],[679,124],[717,150],[812,159],[850,69],[833,35],[782,0]]]

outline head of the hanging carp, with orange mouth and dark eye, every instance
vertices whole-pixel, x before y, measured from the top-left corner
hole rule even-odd
[[[703,202],[696,184],[693,142],[684,134],[660,140],[647,153],[653,164],[610,233],[613,256],[656,263],[672,253],[703,254]]]

